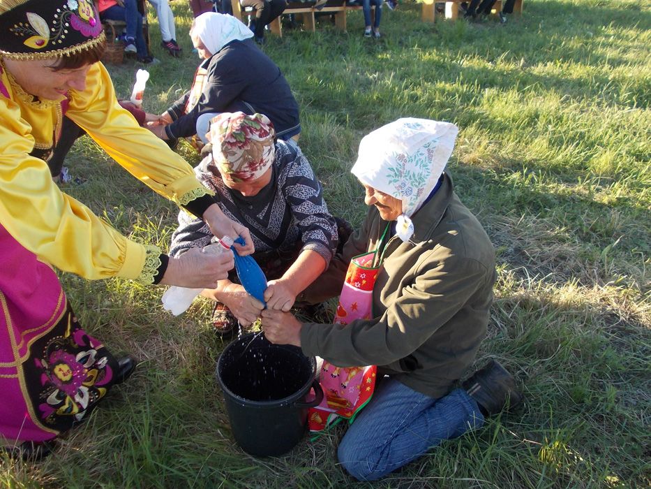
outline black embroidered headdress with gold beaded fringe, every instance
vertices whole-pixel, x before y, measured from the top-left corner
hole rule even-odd
[[[75,54],[104,41],[92,0],[0,0],[0,54],[44,59]]]

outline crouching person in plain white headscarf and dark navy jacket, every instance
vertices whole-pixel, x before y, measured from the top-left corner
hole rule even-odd
[[[195,134],[207,143],[211,119],[220,112],[260,112],[276,138],[298,138],[299,105],[280,68],[251,40],[253,34],[232,15],[204,13],[190,29],[204,61],[192,88],[163,115],[148,114],[149,129],[164,140]]]

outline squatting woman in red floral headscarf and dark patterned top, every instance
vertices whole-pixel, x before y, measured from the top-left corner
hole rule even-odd
[[[197,178],[216,193],[223,212],[248,226],[253,257],[269,286],[267,307],[289,311],[297,294],[325,270],[336,251],[338,223],[328,212],[323,191],[309,161],[294,141],[274,144],[274,126],[266,116],[223,113],[211,124],[212,154],[195,168]],[[170,256],[202,248],[213,238],[200,219],[179,213]],[[216,300],[216,332],[231,335],[237,321],[248,326],[262,304],[236,283],[222,280],[204,297]]]

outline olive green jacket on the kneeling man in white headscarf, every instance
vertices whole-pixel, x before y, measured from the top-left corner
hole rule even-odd
[[[442,397],[474,361],[493,301],[495,252],[449,175],[412,216],[414,235],[386,242],[371,320],[305,323],[301,348],[339,367],[378,365],[414,391]],[[317,302],[341,293],[350,259],[377,249],[387,221],[375,207],[328,270],[306,290]],[[388,234],[387,234],[388,235]]]

